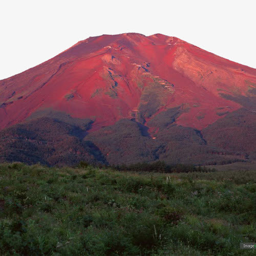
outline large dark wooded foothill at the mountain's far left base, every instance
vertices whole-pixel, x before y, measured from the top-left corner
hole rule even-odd
[[[1,131],[0,161],[69,166],[82,160],[106,163],[97,146],[82,141],[90,122],[72,118],[65,121],[41,117]]]

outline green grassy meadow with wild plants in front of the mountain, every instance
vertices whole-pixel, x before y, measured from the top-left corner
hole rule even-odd
[[[0,165],[0,254],[255,255],[256,172]]]

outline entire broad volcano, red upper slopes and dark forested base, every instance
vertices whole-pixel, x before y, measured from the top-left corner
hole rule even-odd
[[[255,94],[255,69],[179,38],[89,37],[0,81],[0,161],[253,161]]]

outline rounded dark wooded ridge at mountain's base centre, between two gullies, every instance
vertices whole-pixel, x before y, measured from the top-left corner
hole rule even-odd
[[[141,126],[135,121],[120,119],[114,125],[90,133],[84,140],[101,148],[106,160],[112,164],[154,161],[154,150],[158,145],[143,134]]]

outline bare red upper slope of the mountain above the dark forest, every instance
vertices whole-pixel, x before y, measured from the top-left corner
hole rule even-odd
[[[182,104],[187,112],[177,123],[201,130],[242,107],[220,93],[246,96],[255,84],[255,69],[176,37],[136,33],[90,37],[0,81],[0,127],[52,108],[95,119],[95,130],[121,118],[136,116],[147,122]],[[155,106],[148,111],[153,98]]]

